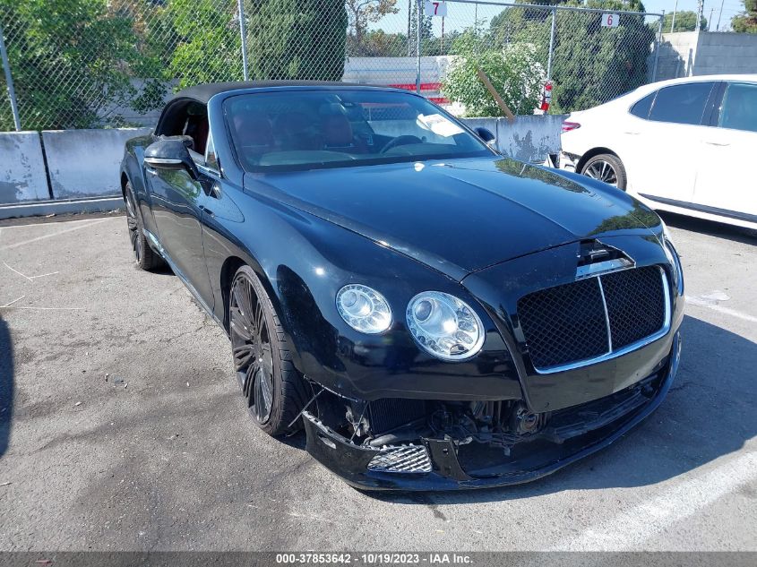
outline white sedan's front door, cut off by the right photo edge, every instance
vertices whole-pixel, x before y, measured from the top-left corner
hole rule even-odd
[[[705,212],[757,220],[757,83],[727,82],[712,127],[701,135],[692,202]]]

